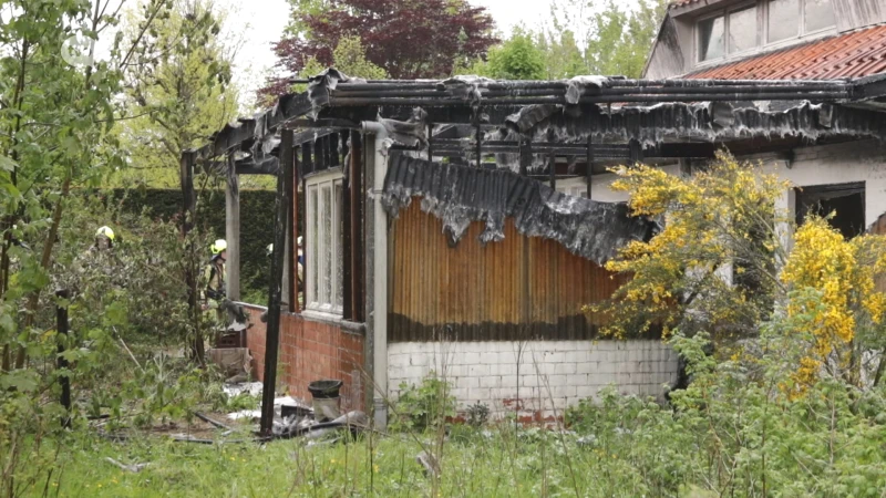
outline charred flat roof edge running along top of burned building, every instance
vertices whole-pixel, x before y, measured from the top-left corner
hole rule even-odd
[[[705,158],[718,146],[741,153],[781,148],[785,142],[886,136],[879,112],[886,76],[365,81],[330,69],[307,83],[306,92],[281,96],[272,108],[226,126],[185,156],[199,164],[233,155],[240,174],[272,174],[279,165],[280,129],[300,129],[292,143],[301,149],[302,177],[336,166],[339,156],[347,156],[343,132],[361,129],[369,121],[384,126],[391,151],[506,168],[546,179],[552,187],[558,179],[584,176],[589,189],[594,175],[618,163]],[[468,197],[475,203],[483,198]],[[459,196],[463,205],[457,208],[476,210],[465,204],[468,197]],[[564,209],[571,208],[586,209]],[[452,207],[447,212],[454,212]],[[599,224],[604,226],[611,224]],[[556,229],[527,230],[558,237]],[[614,251],[614,246],[591,249],[586,242],[567,247],[598,261]]]

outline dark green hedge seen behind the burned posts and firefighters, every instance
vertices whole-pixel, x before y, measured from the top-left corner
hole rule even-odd
[[[126,195],[127,194],[127,195]],[[119,188],[116,199],[124,198],[124,210],[147,211],[169,219],[182,211],[182,191],[173,189]],[[270,190],[240,190],[240,293],[244,300],[264,304],[268,293],[270,259],[266,248],[274,242],[274,207],[276,193]],[[225,193],[212,191],[197,203],[197,222],[215,238],[225,238]],[[207,260],[209,250],[206,251]]]

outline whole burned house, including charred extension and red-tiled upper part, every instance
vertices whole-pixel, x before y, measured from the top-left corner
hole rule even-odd
[[[247,333],[259,375],[279,362],[301,396],[310,381],[340,378],[343,404],[374,405],[381,422],[383,400],[432,371],[462,407],[529,418],[609,384],[661,396],[674,352],[656,336],[601,339],[606,318],[580,311],[620,283],[602,264],[655,230],[609,190],[608,167],[691,174],[727,147],[803,186],[782,200],[799,217],[838,206],[851,235],[886,211],[882,6],[806,0],[853,13],[770,50],[766,14],[803,1],[742,14],[758,22],[755,45],[730,38],[733,2],[680,1],[643,80],[364,81],[329,70],[186,152],[183,178],[227,157],[235,187],[237,174],[280,179],[281,313],[266,326],[251,305]]]

